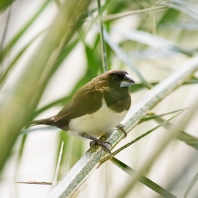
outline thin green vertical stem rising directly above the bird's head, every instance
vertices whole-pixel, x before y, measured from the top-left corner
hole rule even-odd
[[[98,15],[101,16],[101,4],[100,0],[98,0]],[[103,33],[103,22],[100,20],[100,43],[101,43],[101,51],[102,51],[102,66],[104,71],[108,71],[108,62],[107,62],[107,50],[104,40],[104,33]]]

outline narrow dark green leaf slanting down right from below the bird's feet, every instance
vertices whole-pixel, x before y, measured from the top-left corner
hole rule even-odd
[[[131,175],[132,177],[134,175],[137,175],[137,172],[132,169],[131,167],[127,166],[120,160],[116,159],[115,157],[111,158],[111,161],[119,168],[121,168],[124,172]],[[175,195],[161,187],[160,185],[156,184],[152,180],[148,179],[145,176],[140,176],[139,182],[143,183],[144,185],[148,186],[150,189],[154,190],[156,193],[160,194],[161,196],[165,198],[177,198]]]

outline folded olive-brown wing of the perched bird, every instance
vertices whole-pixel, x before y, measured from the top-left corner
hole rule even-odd
[[[94,88],[85,88],[76,92],[72,100],[57,114],[55,122],[71,120],[97,111],[102,106],[102,95]]]

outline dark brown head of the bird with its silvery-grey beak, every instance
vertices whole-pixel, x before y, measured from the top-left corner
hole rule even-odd
[[[112,89],[123,89],[133,85],[135,82],[124,70],[110,70],[95,78],[99,87],[110,87]]]

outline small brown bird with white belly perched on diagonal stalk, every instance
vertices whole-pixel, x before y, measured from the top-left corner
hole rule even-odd
[[[111,153],[110,143],[98,137],[111,132],[127,114],[131,106],[129,87],[133,84],[126,71],[109,70],[78,89],[57,115],[34,120],[31,126],[56,126],[69,135],[90,139],[90,146],[100,145]]]

